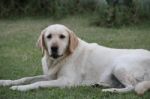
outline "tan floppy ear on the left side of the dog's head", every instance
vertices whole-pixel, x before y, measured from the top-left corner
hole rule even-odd
[[[44,55],[44,50],[46,50],[46,45],[45,45],[45,41],[44,41],[44,34],[46,32],[46,29],[44,29],[37,41],[37,46],[42,50],[42,55]]]

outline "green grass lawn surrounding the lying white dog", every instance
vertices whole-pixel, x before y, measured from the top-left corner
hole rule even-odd
[[[72,29],[87,42],[115,48],[144,48],[150,50],[150,22],[122,28],[89,26],[91,18],[68,17],[62,20],[50,18],[22,18],[0,20],[0,79],[18,79],[42,74],[41,52],[36,47],[40,31],[49,24],[61,23]],[[0,87],[0,99],[150,99],[134,92],[126,94],[102,93],[101,88],[47,88],[29,92],[12,91]]]

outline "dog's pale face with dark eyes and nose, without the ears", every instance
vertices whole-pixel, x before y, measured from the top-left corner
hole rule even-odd
[[[69,34],[62,26],[52,25],[47,28],[44,41],[49,56],[58,58],[63,56],[68,47]]]

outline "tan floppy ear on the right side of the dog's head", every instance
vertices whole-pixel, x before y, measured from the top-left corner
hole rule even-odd
[[[71,31],[68,30],[69,32],[69,53],[73,53],[76,47],[78,46],[79,40],[78,37]]]

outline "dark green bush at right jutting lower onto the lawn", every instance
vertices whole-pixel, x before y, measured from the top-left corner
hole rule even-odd
[[[92,24],[106,27],[139,24],[150,20],[149,0],[106,0],[107,8],[95,13]]]

